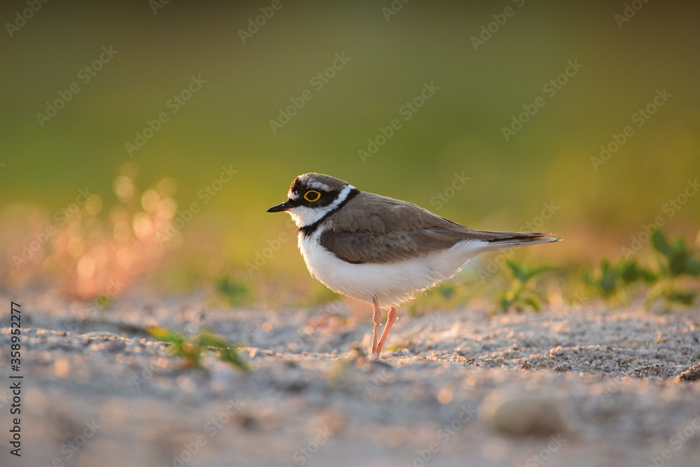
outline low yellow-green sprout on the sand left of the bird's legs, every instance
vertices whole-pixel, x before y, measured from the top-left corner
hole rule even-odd
[[[203,368],[202,356],[207,349],[218,351],[218,358],[244,372],[251,372],[251,367],[241,359],[234,344],[226,342],[211,330],[202,330],[188,340],[186,335],[162,326],[151,326],[148,334],[155,339],[169,342],[171,354],[181,356],[186,368]]]

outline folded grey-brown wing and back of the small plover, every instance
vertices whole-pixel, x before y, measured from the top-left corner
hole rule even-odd
[[[505,242],[517,238],[542,238],[542,234],[471,230],[416,204],[362,192],[330,218],[320,242],[338,258],[360,264],[424,256],[468,239]]]

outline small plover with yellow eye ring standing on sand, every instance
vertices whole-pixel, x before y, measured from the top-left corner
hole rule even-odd
[[[287,200],[267,209],[283,211],[296,225],[311,277],[372,304],[373,360],[398,319],[396,307],[454,277],[477,254],[561,240],[548,232],[472,230],[412,202],[315,172],[297,176]],[[382,307],[388,312],[379,337]]]

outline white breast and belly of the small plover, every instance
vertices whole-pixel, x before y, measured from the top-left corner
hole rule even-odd
[[[351,264],[337,258],[318,243],[323,233],[299,235],[299,249],[309,272],[333,291],[381,306],[396,306],[410,300],[414,293],[426,290],[454,276],[461,266],[483,251],[486,242],[460,242],[450,249],[429,256],[388,264]]]

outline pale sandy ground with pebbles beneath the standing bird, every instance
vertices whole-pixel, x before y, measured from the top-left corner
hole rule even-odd
[[[1,466],[700,465],[697,308],[402,317],[388,341],[400,349],[377,363],[361,350],[369,320],[342,305],[216,309],[190,296],[102,312],[52,293],[11,298],[22,456],[3,441]],[[255,370],[214,355],[208,371],[183,369],[145,338],[151,323],[211,328],[244,344]],[[9,352],[2,328],[4,438]]]

